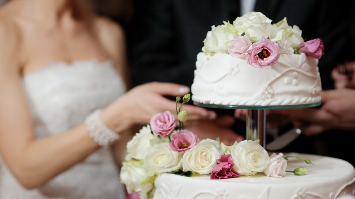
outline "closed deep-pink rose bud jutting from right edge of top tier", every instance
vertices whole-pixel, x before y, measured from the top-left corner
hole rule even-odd
[[[312,39],[300,45],[300,53],[305,53],[310,57],[320,59],[324,55],[324,45],[321,39]]]

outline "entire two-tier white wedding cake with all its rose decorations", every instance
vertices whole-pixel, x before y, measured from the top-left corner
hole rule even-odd
[[[321,39],[307,42],[286,18],[271,24],[250,12],[233,24],[212,27],[197,55],[192,99],[225,105],[290,105],[320,102]],[[184,130],[183,105],[175,117],[159,113],[127,143],[121,182],[141,199],[335,199],[355,195],[354,167],[307,154],[268,154],[259,141],[232,146],[199,140]],[[308,168],[304,167],[308,164]],[[312,164],[312,165],[311,165]],[[286,174],[290,173],[290,174]]]

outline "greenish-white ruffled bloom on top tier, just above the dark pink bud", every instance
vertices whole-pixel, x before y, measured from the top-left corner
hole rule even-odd
[[[302,30],[300,30],[300,28],[297,25],[294,25],[293,27],[291,27],[288,23],[287,23],[287,19],[286,17],[284,19],[282,19],[281,21],[277,22],[274,24],[274,26],[281,30],[282,32],[282,36],[283,35],[287,35],[289,36],[289,38],[292,41],[292,48],[296,48],[297,46],[299,46],[302,42],[304,42],[303,38],[302,38]],[[281,38],[278,38],[281,39]],[[275,42],[280,41],[280,40],[273,40]]]

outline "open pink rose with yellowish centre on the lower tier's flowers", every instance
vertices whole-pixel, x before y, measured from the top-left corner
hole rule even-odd
[[[191,131],[181,130],[171,136],[170,148],[183,153],[198,143],[197,135]]]

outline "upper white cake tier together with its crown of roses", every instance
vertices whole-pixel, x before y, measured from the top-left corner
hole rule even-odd
[[[307,42],[286,18],[271,24],[249,12],[207,33],[198,53],[192,100],[223,105],[292,105],[320,102],[318,59],[322,40]]]

